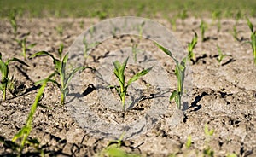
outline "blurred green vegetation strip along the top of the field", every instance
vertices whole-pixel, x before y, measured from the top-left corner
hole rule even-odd
[[[0,0],[0,17],[256,16],[256,0]]]

